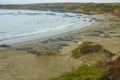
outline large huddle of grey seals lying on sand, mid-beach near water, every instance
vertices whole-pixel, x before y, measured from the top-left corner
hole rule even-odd
[[[62,47],[69,46],[68,43],[66,43],[66,41],[72,41],[72,40],[80,40],[80,38],[73,35],[66,35],[57,38],[51,38],[42,41],[42,43],[43,43],[43,48],[45,50],[52,50],[59,52],[59,50],[62,49]]]

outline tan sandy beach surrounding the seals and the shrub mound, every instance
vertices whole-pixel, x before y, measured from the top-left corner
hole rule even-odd
[[[116,56],[120,55],[120,19],[110,15],[91,15],[90,18],[96,18],[97,21],[84,29],[51,38],[66,35],[78,36],[82,38],[82,41],[100,43],[106,49],[115,53]],[[102,30],[109,34],[111,38],[85,36],[94,30]],[[36,56],[27,53],[29,48],[41,50],[41,40],[14,44],[10,48],[0,48],[0,80],[47,80],[70,71],[82,63],[94,64],[97,61],[104,60],[104,56],[98,54],[83,56],[79,60],[70,58],[71,50],[78,46],[73,41],[63,41],[69,46],[62,47],[60,50],[61,54],[64,54],[62,56]],[[22,48],[22,50],[18,50],[18,48]]]

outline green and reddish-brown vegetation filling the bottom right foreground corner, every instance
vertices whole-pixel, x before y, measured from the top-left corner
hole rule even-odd
[[[106,63],[102,68],[93,66],[81,66],[77,70],[64,73],[58,78],[51,80],[119,80],[120,79],[120,57]]]

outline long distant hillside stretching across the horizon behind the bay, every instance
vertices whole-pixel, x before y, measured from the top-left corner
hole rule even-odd
[[[0,5],[0,9],[33,9],[52,10],[60,12],[76,12],[85,14],[120,13],[120,3],[45,3],[45,4],[19,4]],[[120,16],[120,15],[119,15]]]

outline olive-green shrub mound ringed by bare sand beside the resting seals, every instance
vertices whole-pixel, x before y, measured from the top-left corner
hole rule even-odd
[[[95,53],[95,52],[113,54],[110,51],[103,48],[100,44],[95,44],[95,43],[92,43],[92,42],[83,42],[79,47],[72,50],[71,57],[79,58],[81,55],[85,55],[85,54],[89,54],[89,53]]]

